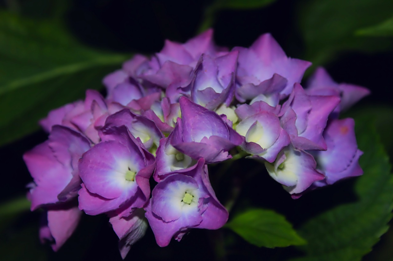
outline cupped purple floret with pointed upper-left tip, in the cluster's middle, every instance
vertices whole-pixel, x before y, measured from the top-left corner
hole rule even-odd
[[[182,118],[178,118],[173,130],[173,147],[191,158],[204,158],[206,163],[231,158],[228,151],[243,142],[231,122],[184,96],[179,103]]]

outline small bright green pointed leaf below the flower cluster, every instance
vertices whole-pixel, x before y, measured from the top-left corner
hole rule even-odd
[[[225,227],[249,243],[269,248],[303,245],[306,243],[285,217],[272,210],[255,208],[235,216]]]

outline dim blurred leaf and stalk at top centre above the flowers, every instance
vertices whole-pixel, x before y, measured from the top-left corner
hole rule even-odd
[[[198,33],[202,33],[212,27],[217,16],[217,12],[223,9],[256,9],[272,4],[276,0],[215,0],[205,8],[203,20],[198,28]]]

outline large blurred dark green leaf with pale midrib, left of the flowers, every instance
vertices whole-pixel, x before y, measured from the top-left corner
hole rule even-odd
[[[50,20],[0,13],[0,145],[36,129],[49,110],[100,89],[129,55],[79,44]]]

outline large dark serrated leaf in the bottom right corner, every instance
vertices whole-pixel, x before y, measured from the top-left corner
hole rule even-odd
[[[363,176],[356,178],[358,200],[334,207],[299,229],[309,244],[305,260],[360,260],[387,229],[393,208],[393,176],[389,159],[377,138],[373,118],[356,119]]]

